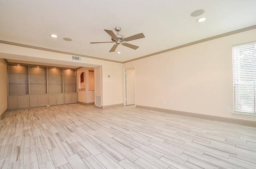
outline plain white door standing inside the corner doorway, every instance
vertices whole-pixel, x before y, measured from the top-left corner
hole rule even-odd
[[[135,104],[135,71],[126,69],[126,105]]]

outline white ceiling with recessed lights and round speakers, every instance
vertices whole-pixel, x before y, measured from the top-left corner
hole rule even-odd
[[[256,0],[0,0],[0,40],[122,62],[256,25],[255,9]],[[140,47],[118,45],[117,55],[108,52],[114,43],[90,44],[111,41],[104,29],[115,27],[144,33],[129,42]]]

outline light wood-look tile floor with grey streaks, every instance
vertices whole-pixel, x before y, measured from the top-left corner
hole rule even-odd
[[[255,169],[256,128],[123,106],[12,110],[2,169]]]

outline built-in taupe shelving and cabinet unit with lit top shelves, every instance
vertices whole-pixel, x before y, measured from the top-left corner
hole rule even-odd
[[[76,103],[76,70],[8,65],[8,108]]]

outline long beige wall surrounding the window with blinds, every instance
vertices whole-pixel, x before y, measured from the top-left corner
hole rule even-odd
[[[226,112],[234,109],[232,45],[255,39],[253,29],[125,63],[136,65],[136,105],[256,121]]]

